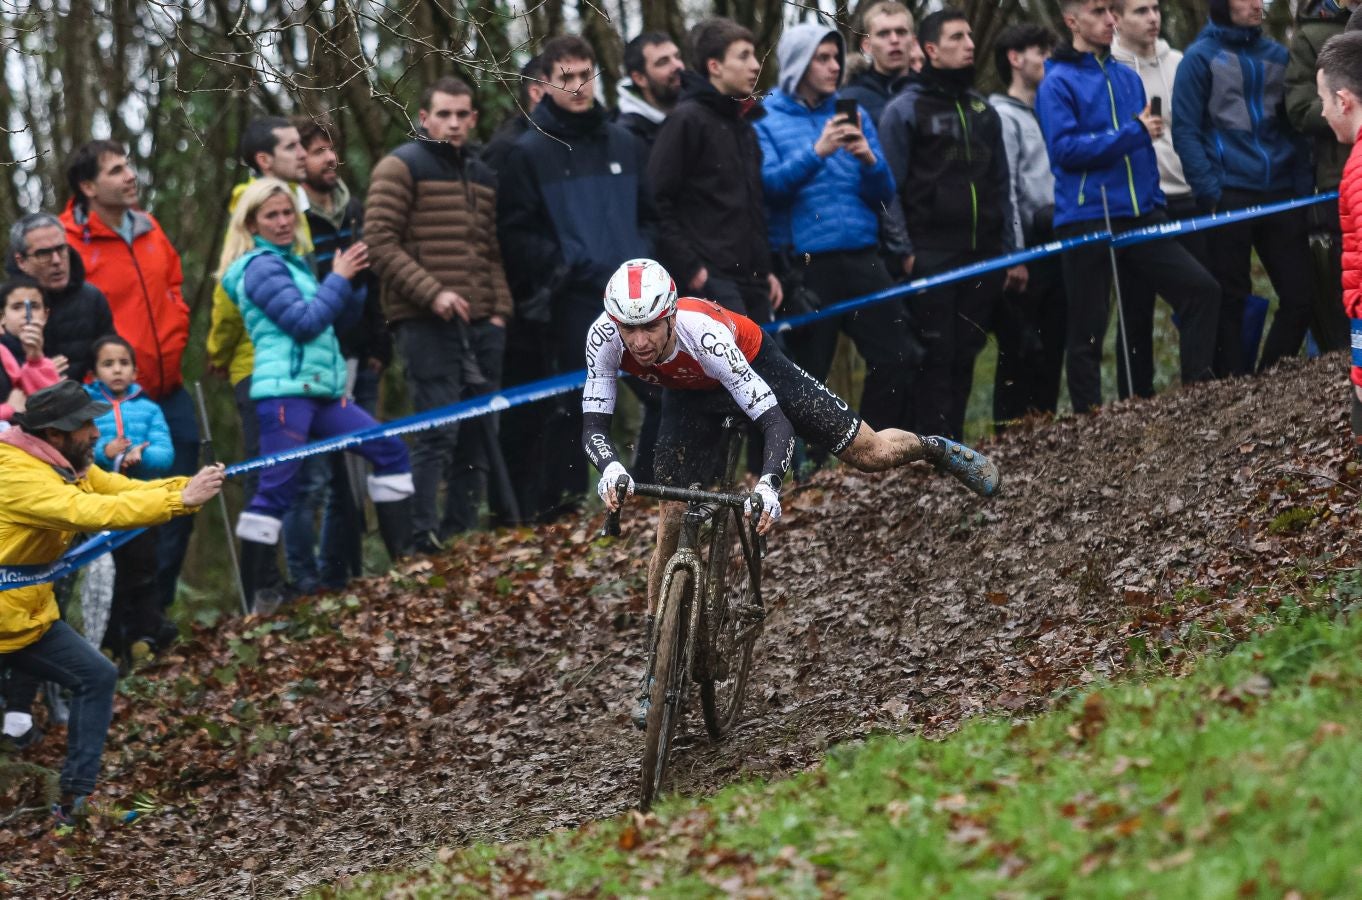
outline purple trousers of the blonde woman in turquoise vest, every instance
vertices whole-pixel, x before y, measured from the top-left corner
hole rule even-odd
[[[260,422],[262,456],[301,447],[309,440],[338,437],[377,425],[377,421],[355,406],[350,398],[313,400],[302,396],[281,396],[256,400],[256,419]],[[411,471],[407,445],[400,438],[384,437],[368,441],[354,452],[373,463],[375,475],[399,475]],[[247,511],[282,519],[298,493],[297,474],[302,463],[301,459],[290,459],[260,470],[260,483]]]

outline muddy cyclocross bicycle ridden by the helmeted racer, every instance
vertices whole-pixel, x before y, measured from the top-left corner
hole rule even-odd
[[[722,490],[700,490],[699,485],[689,489],[633,485],[637,496],[686,504],[677,550],[663,569],[658,610],[647,624],[643,697],[648,705],[639,795],[643,810],[651,806],[666,779],[691,682],[700,686],[700,709],[712,741],[727,737],[742,709],[752,647],[765,620],[764,541],[756,532],[759,516],[742,515],[749,502],[760,509],[761,501],[756,494],[731,492],[744,428],[735,417],[723,422]],[[617,496],[622,498],[627,487],[628,479],[621,478]],[[620,534],[620,512],[622,502],[621,509],[606,516],[602,535]]]

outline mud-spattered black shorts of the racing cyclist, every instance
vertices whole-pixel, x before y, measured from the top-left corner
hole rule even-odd
[[[775,393],[780,411],[794,433],[808,444],[825,448],[834,456],[844,451],[861,430],[861,417],[821,381],[791,362],[770,338],[752,359],[752,369]],[[662,391],[662,425],[654,455],[654,477],[659,485],[689,487],[712,485],[722,472],[719,437],[723,419],[746,422],[733,396],[714,391]],[[749,436],[756,437],[749,430]]]

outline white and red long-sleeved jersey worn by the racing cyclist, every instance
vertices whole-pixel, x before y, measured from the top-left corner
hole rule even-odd
[[[602,313],[587,331],[587,384],[582,392],[582,411],[614,413],[620,369],[648,384],[676,391],[725,388],[752,419],[776,406],[775,393],[752,368],[761,350],[761,328],[755,321],[695,297],[677,301],[673,321],[676,350],[667,359],[644,366],[625,349],[614,321]]]

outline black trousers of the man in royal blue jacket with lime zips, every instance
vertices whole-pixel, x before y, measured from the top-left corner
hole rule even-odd
[[[1155,210],[1141,216],[1113,219],[1111,229],[1120,234],[1167,221],[1163,210]],[[1092,219],[1061,225],[1056,234],[1069,238],[1103,227],[1102,219]],[[1145,241],[1118,248],[1115,255],[1122,298],[1143,286],[1143,290],[1162,295],[1181,317],[1178,350],[1182,383],[1212,377],[1220,310],[1220,286],[1215,278],[1175,241]],[[1069,298],[1065,336],[1069,399],[1075,413],[1087,413],[1102,404],[1102,339],[1111,315],[1111,257],[1106,244],[1088,244],[1065,252],[1061,260],[1064,289]]]

